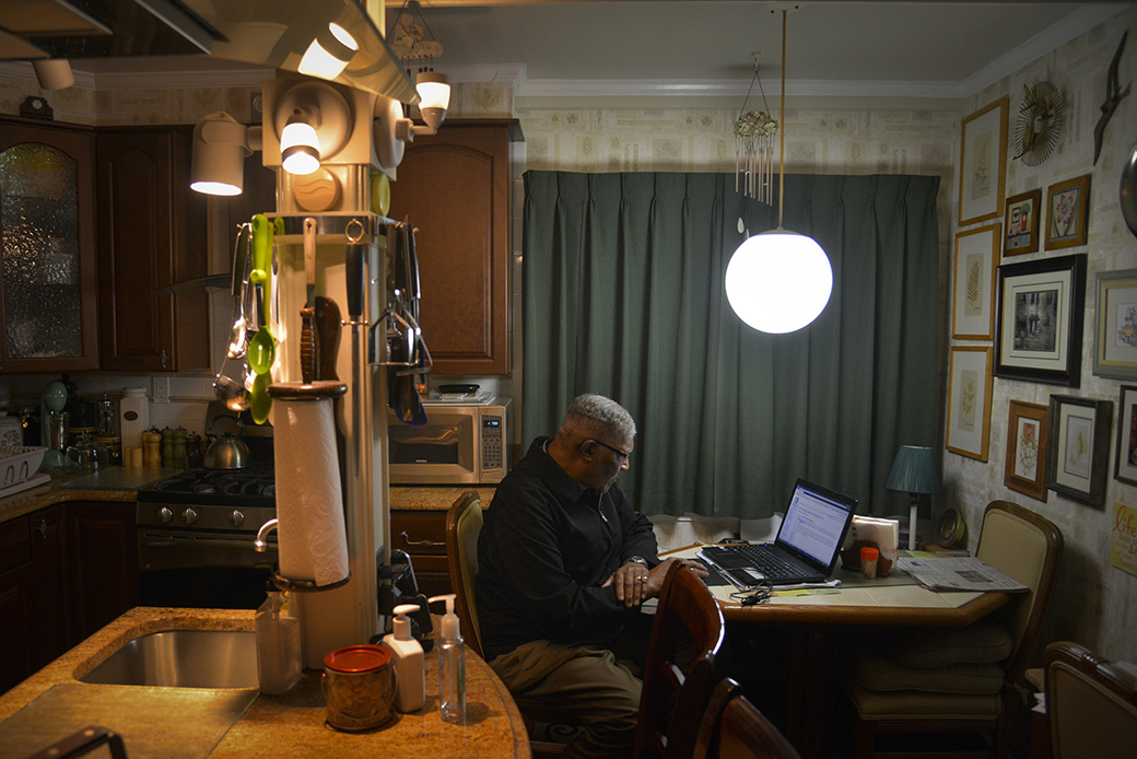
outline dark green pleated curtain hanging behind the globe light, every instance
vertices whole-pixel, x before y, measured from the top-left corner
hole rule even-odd
[[[723,291],[730,255],[778,225],[733,174],[526,172],[522,444],[581,393],[639,434],[621,488],[644,513],[782,511],[798,477],[906,513],[901,445],[941,435],[935,176],[787,175],[783,226],[813,237],[833,294],[766,335]]]

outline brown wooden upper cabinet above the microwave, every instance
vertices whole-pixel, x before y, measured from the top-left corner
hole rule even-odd
[[[407,146],[389,215],[417,229],[420,324],[435,376],[507,374],[509,143],[516,119],[448,121]]]

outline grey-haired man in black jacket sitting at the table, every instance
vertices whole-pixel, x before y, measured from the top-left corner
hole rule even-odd
[[[677,561],[659,562],[652,522],[615,487],[634,437],[619,403],[578,397],[501,480],[478,541],[485,660],[522,711],[583,727],[570,758],[631,754],[641,683],[630,667],[642,667],[653,619],[640,604]]]

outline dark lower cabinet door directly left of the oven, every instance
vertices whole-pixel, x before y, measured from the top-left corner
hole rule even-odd
[[[135,504],[67,503],[70,602],[78,640],[139,603]]]

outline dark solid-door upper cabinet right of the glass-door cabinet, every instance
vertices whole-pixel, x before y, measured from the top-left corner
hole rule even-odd
[[[209,368],[206,196],[190,190],[190,127],[115,127],[97,140],[100,368]]]

